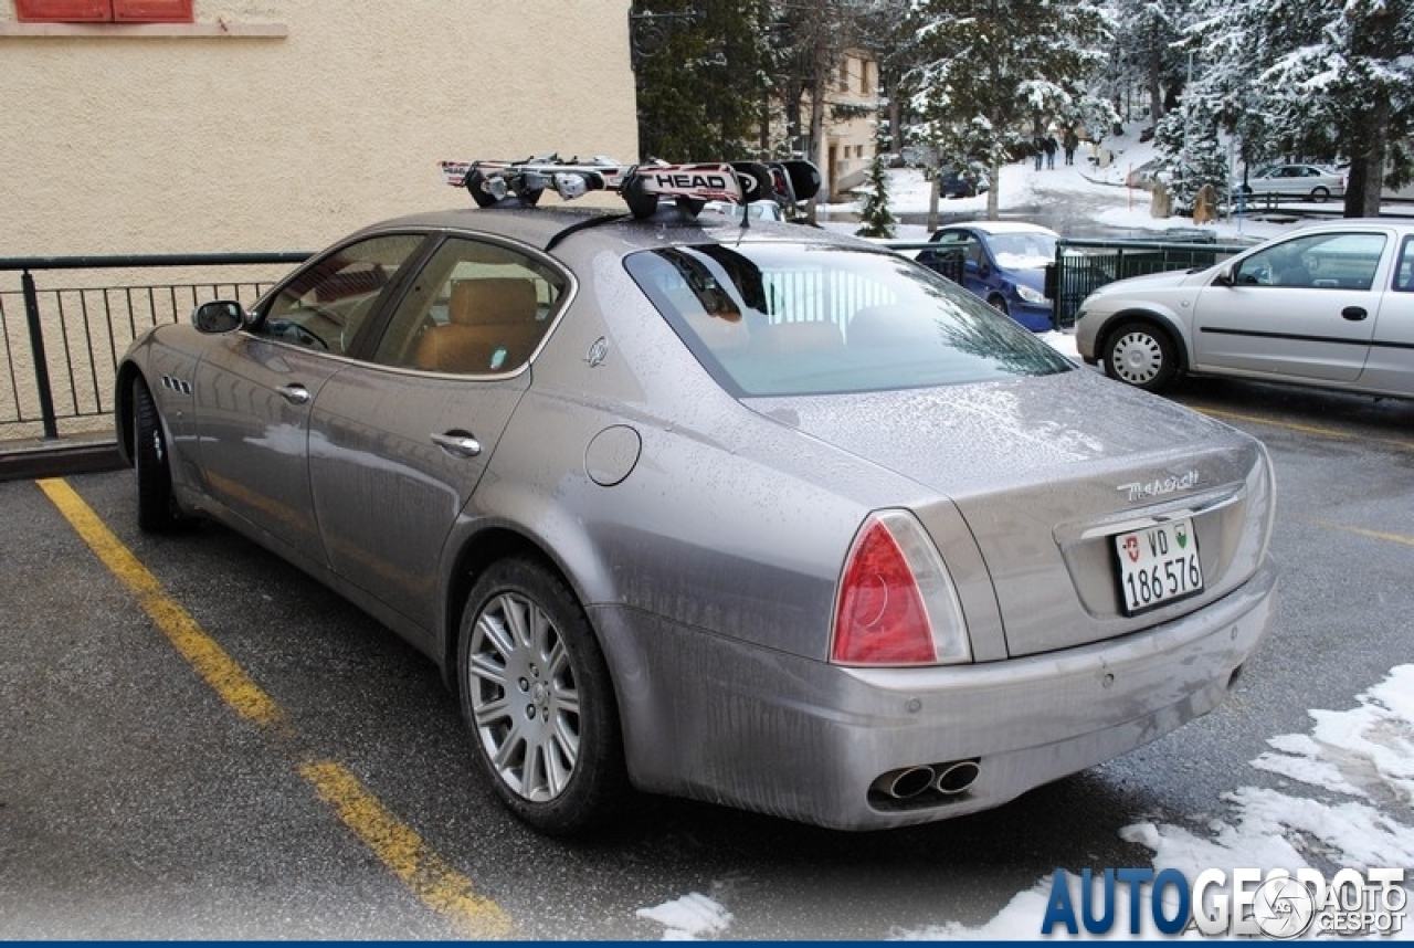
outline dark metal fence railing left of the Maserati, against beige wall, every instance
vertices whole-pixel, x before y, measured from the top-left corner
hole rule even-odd
[[[308,256],[0,258],[0,441],[112,430],[117,361],[137,335],[206,300],[255,303]]]

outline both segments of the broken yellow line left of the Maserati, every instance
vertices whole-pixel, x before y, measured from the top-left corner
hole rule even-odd
[[[37,481],[85,543],[136,597],[173,647],[242,717],[262,727],[279,727],[293,737],[280,706],[256,685],[197,621],[173,601],[161,583],[123,546],[107,525],[66,481]],[[513,934],[510,917],[489,898],[477,896],[471,880],[428,849],[411,828],[390,814],[339,764],[304,763],[298,767],[320,799],[397,876],[424,906],[472,938]]]

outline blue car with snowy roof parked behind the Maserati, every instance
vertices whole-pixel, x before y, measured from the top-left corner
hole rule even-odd
[[[918,262],[976,293],[1032,333],[1053,328],[1045,296],[1046,265],[1055,263],[1060,235],[1018,221],[969,221],[939,228],[937,249]]]

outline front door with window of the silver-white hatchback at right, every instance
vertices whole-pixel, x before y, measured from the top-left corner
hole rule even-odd
[[[1297,235],[1241,259],[1193,306],[1195,368],[1353,382],[1380,310],[1390,236]]]

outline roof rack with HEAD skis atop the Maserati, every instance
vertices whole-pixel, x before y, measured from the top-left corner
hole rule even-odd
[[[775,201],[793,215],[820,190],[820,171],[809,161],[706,161],[693,164],[619,164],[595,157],[561,160],[556,154],[522,161],[441,161],[443,180],[467,188],[477,207],[534,207],[554,191],[573,201],[590,191],[617,191],[635,218],[649,218],[672,201],[696,216],[708,201]]]

